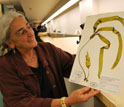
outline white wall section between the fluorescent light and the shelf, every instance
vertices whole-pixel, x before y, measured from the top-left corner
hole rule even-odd
[[[47,24],[47,26],[51,27],[52,30],[61,31],[61,33],[74,34],[76,29],[79,29],[80,26],[80,12],[78,4],[65,11],[55,20],[52,20]]]

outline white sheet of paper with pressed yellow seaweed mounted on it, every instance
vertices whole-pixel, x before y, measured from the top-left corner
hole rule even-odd
[[[124,12],[88,16],[69,81],[119,95],[123,70]]]

